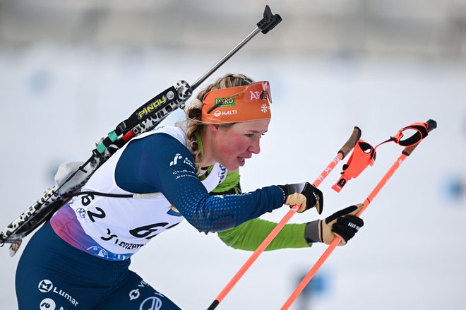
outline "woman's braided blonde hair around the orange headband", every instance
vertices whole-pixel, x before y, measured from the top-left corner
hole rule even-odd
[[[237,86],[244,86],[253,83],[251,78],[244,76],[242,74],[226,74],[217,79],[214,83],[208,85],[206,88],[201,90],[201,92],[196,95],[196,98],[191,101],[189,106],[186,107],[186,137],[189,141],[189,150],[194,157],[194,162],[196,168],[201,167],[201,162],[203,160],[203,152],[199,148],[197,136],[201,135],[204,124],[201,121],[201,112],[202,112],[202,100],[206,93],[210,90],[217,90],[221,88],[230,88]],[[220,126],[232,126],[232,124],[222,124]]]

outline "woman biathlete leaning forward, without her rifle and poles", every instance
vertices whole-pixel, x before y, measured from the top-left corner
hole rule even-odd
[[[229,246],[255,250],[275,226],[256,217],[284,204],[320,214],[323,194],[307,182],[241,193],[238,169],[261,150],[270,102],[268,82],[227,74],[198,93],[184,124],[143,133],[118,150],[86,193],[28,242],[16,271],[19,309],[179,309],[129,269],[150,239],[186,219]],[[355,213],[351,206],[286,225],[268,249],[330,243],[333,233],[345,243],[363,225]]]

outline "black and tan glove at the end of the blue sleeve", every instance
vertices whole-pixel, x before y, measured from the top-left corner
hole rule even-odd
[[[309,182],[279,185],[285,193],[285,205],[299,205],[297,212],[301,213],[315,207],[317,213],[323,210],[323,193]]]

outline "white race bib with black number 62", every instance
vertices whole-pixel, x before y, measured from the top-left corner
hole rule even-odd
[[[167,133],[177,138],[183,145],[187,145],[184,131],[175,126],[143,133],[134,139],[157,133]],[[97,169],[82,191],[131,194],[121,189],[114,178],[115,167],[126,146]],[[208,176],[201,182],[210,192],[225,179],[226,175],[225,167],[215,164]],[[169,201],[161,193],[159,196],[148,196],[150,197],[76,196],[71,202],[71,208],[76,213],[85,234],[88,234],[103,249],[113,254],[131,255],[147,244],[151,238],[179,224],[184,218],[176,209],[171,208]]]

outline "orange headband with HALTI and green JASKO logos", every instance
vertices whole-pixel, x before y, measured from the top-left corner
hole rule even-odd
[[[270,119],[271,102],[268,81],[211,90],[203,98],[201,121],[227,124]]]

